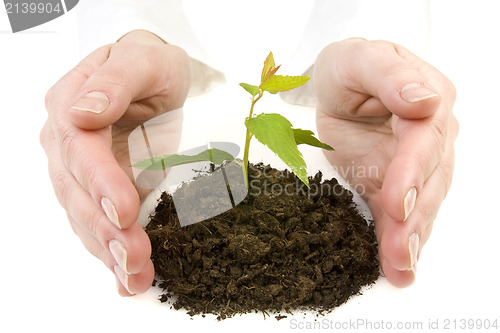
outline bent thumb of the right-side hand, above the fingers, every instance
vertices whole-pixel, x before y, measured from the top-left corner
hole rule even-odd
[[[318,106],[347,118],[390,113],[408,119],[428,117],[440,102],[427,75],[430,67],[403,47],[385,41],[333,43],[315,64]]]

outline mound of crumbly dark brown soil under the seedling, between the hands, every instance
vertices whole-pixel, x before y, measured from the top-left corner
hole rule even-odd
[[[377,280],[373,223],[337,180],[322,182],[318,173],[308,190],[292,173],[263,164],[253,165],[249,177],[251,194],[242,203],[186,227],[172,197],[162,195],[146,230],[166,290],[161,301],[174,295],[175,309],[219,319],[259,311],[322,313]],[[288,190],[277,195],[279,189]]]

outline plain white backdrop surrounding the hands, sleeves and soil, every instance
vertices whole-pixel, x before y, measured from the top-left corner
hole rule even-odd
[[[207,50],[228,74],[228,84],[186,102],[188,125],[190,114],[213,110],[234,111],[235,121],[240,114],[243,117],[248,100],[241,88],[235,88],[237,83],[258,80],[269,50],[278,63],[290,58],[297,46],[295,36],[300,36],[310,9],[309,2],[298,0],[258,0],[244,6],[236,1],[215,2],[219,9],[228,9],[209,17],[208,4],[198,4],[202,8],[196,11],[193,1],[187,1],[186,11],[197,22],[194,29]],[[272,24],[282,27],[296,21],[291,33],[251,38],[249,28],[264,32],[261,23],[265,20],[257,19],[258,15],[271,18],[270,13],[283,6],[289,9],[286,17],[276,15]],[[493,0],[448,0],[436,1],[433,9],[433,53],[428,60],[458,91],[454,111],[461,130],[453,186],[421,254],[416,283],[397,289],[381,278],[363,296],[325,317],[337,323],[410,321],[427,328],[429,320],[439,319],[442,327],[446,319],[496,318],[500,325],[500,218],[495,208],[500,186],[500,6]],[[210,316],[191,320],[157,302],[157,289],[133,298],[119,297],[112,274],[85,251],[66,221],[38,141],[46,119],[44,95],[79,59],[75,15],[70,12],[12,34],[1,6],[0,11],[0,331],[286,331],[294,323],[312,323],[315,317],[302,313],[279,322],[263,320],[260,314],[220,323]],[[291,107],[272,97],[263,105],[281,108],[292,118],[305,113],[306,124],[301,126],[314,125],[313,110]],[[193,124],[187,134],[198,129]]]

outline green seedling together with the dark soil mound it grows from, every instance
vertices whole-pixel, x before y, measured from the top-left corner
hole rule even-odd
[[[328,313],[379,277],[373,224],[359,214],[350,191],[330,192],[339,186],[336,179],[322,181],[318,172],[311,178],[311,188],[318,186],[318,190],[307,191],[306,196],[302,191],[305,185],[295,177],[273,177],[278,170],[255,165],[252,190],[243,185],[244,179],[248,182],[242,170],[248,172],[253,137],[275,152],[305,184],[309,183],[306,164],[297,146],[332,149],[311,131],[293,128],[279,114],[254,115],[255,104],[266,92],[287,91],[309,80],[279,76],[277,70],[269,54],[260,84],[241,84],[252,101],[245,119],[243,163],[222,151],[231,149],[215,143],[208,150],[191,150],[205,150],[198,155],[169,155],[152,161],[159,170],[162,163],[235,162],[182,183],[172,193],[164,192],[146,229],[156,276],[167,288],[160,300],[165,302],[175,295],[175,300],[170,300],[174,308],[184,308],[190,315],[210,313],[221,320],[254,311],[264,316],[299,309]],[[238,186],[233,186],[236,178]],[[274,192],[275,185],[279,186],[279,194]],[[297,191],[281,191],[289,185],[297,185]],[[273,195],[255,194],[267,189]],[[233,198],[229,203],[230,191],[234,194],[234,190],[239,191],[241,200]],[[331,195],[324,195],[326,192]],[[178,203],[184,200],[187,202],[181,202],[180,214]],[[210,219],[205,219],[206,213]],[[175,215],[178,219],[172,218]],[[201,223],[182,228],[196,222]]]

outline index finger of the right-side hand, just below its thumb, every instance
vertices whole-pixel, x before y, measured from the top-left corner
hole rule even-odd
[[[398,146],[387,168],[381,189],[382,204],[395,221],[405,221],[417,197],[439,163],[446,163],[446,149],[458,132],[458,123],[445,105],[423,120],[398,119]],[[450,177],[453,169],[450,170]]]

